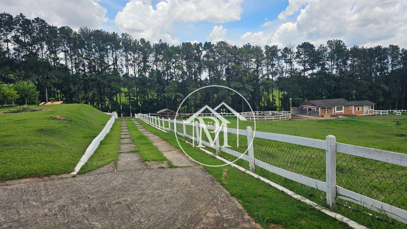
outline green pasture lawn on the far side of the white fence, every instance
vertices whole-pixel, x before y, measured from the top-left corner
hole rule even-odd
[[[231,124],[228,127],[236,128],[236,119],[228,118]],[[398,125],[396,123],[398,122]],[[141,121],[140,123],[143,123]],[[239,128],[245,129],[246,126],[252,126],[253,122],[239,121]],[[324,119],[324,120],[304,120],[304,121],[257,121],[256,130],[264,132],[276,132],[281,134],[290,134],[303,137],[312,137],[317,139],[325,139],[328,134],[337,136],[337,141],[350,143],[354,145],[362,145],[366,147],[379,148],[383,150],[395,150],[396,152],[406,153],[406,141],[400,142],[398,139],[406,139],[403,134],[407,133],[405,116],[382,116],[382,117],[348,117],[346,119]],[[177,129],[182,128],[177,125]],[[363,131],[362,131],[363,130]],[[192,135],[192,129],[188,129],[187,133]],[[390,135],[389,137],[386,134]],[[399,137],[401,135],[401,137]],[[173,141],[168,137],[169,141]],[[383,137],[386,136],[386,137]],[[166,139],[167,140],[167,139]],[[228,142],[236,143],[236,135],[228,134]],[[221,145],[223,139],[221,138]],[[176,144],[176,142],[175,142]],[[175,145],[177,146],[177,144]],[[184,147],[184,146],[183,146]],[[239,137],[239,148],[232,147],[233,150],[244,152],[247,148],[246,136]],[[207,148],[214,152],[213,149]],[[189,154],[189,151],[188,151]],[[202,161],[201,156],[190,154],[197,161]],[[233,161],[236,159],[230,154],[221,153],[225,159]],[[254,156],[261,161],[265,161],[271,165],[281,167],[291,172],[296,172],[311,178],[325,181],[325,151],[316,148],[303,147],[295,144],[282,143],[267,139],[254,140]],[[236,164],[249,168],[248,163],[243,160],[238,160]],[[208,169],[210,170],[210,169]],[[338,153],[337,155],[337,183],[338,185],[348,188],[354,192],[364,194],[371,198],[375,198],[389,203],[394,206],[405,209],[406,198],[405,185],[407,184],[407,168],[394,166],[392,164],[381,163],[372,160],[364,160],[354,156]],[[256,174],[263,176],[275,183],[282,185],[306,198],[326,206],[325,200],[320,197],[325,197],[325,193],[301,185],[289,179],[283,178],[259,167],[256,168]],[[219,180],[219,179],[218,179]],[[404,186],[403,186],[404,185]],[[226,187],[226,186],[225,186]],[[231,193],[232,190],[228,189]],[[378,215],[374,211],[362,208],[359,205],[337,200],[340,203],[351,205],[360,211]],[[262,204],[263,206],[263,204]],[[258,206],[259,207],[259,206]],[[261,211],[267,211],[267,208],[261,208]],[[248,210],[249,211],[249,210]],[[351,218],[367,227],[372,228],[403,228],[404,224],[396,222],[396,225],[390,225],[386,222],[381,222],[370,216],[362,213],[351,211],[345,207],[338,206],[336,212]],[[256,213],[257,214],[257,213]],[[253,215],[252,215],[253,216]],[[383,216],[382,216],[383,217]],[[286,225],[287,226],[287,225]]]

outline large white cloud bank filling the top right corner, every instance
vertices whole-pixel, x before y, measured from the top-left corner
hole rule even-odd
[[[243,34],[241,43],[282,47],[287,43],[308,41],[319,45],[341,39],[347,46],[407,46],[405,0],[290,0],[278,19],[281,24],[277,21],[268,31]],[[263,26],[271,25],[268,22]]]

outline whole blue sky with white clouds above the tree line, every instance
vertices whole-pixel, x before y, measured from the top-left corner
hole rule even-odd
[[[340,39],[348,47],[407,48],[407,0],[13,0],[0,1],[0,9],[174,45],[225,40],[283,48]]]

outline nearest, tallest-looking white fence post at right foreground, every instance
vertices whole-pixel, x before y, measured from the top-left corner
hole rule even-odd
[[[326,203],[336,205],[336,137],[326,136]]]

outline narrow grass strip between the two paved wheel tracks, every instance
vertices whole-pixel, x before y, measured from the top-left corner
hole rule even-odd
[[[160,150],[151,143],[151,141],[140,132],[130,118],[126,118],[127,126],[130,131],[131,139],[136,144],[137,153],[143,162],[147,161],[167,161],[166,157]],[[168,162],[169,163],[169,162]]]

